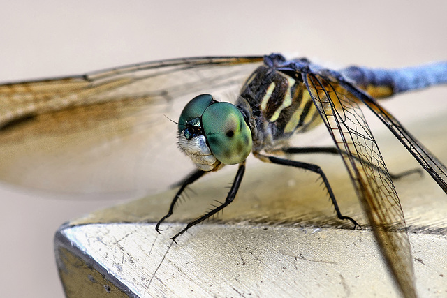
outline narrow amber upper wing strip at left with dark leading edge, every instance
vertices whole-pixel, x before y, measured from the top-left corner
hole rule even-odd
[[[168,59],[144,64],[134,64],[119,68],[96,71],[86,75],[56,77],[53,79],[15,82],[0,85],[0,128],[11,122],[33,117],[36,114],[55,112],[68,107],[77,107],[110,100],[122,100],[125,91],[132,90],[142,80],[152,80],[194,68],[212,66],[231,66],[252,64],[263,61],[261,56],[253,57],[195,57]],[[214,77],[217,81],[219,77]],[[195,81],[197,82],[197,81]],[[193,87],[191,82],[191,87]],[[134,98],[164,98],[170,100],[178,95],[180,89],[188,87],[182,84],[172,91],[154,88],[151,92],[131,94]],[[181,87],[181,88],[180,88]],[[122,93],[112,94],[117,89],[126,89]],[[87,100],[85,100],[87,99]]]

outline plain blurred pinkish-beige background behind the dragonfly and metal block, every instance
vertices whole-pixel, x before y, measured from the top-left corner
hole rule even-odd
[[[0,82],[199,55],[298,52],[339,66],[389,67],[447,59],[445,1],[162,2],[3,4]],[[437,100],[445,98],[427,98]],[[403,108],[404,96],[394,105]],[[446,107],[430,105],[422,112]],[[418,117],[420,109],[409,109]],[[0,199],[0,295],[61,297],[54,231],[113,202],[54,200],[4,184]]]

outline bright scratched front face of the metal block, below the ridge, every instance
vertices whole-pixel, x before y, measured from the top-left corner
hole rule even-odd
[[[172,246],[154,225],[82,225],[64,233],[131,297],[398,297],[368,231],[205,224]],[[446,295],[446,255],[432,258],[446,238],[410,240],[419,294]],[[87,274],[80,288],[92,283]]]

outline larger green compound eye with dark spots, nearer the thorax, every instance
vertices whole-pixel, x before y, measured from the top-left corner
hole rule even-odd
[[[251,152],[251,131],[231,103],[214,103],[202,115],[203,130],[214,157],[226,165],[240,163]]]

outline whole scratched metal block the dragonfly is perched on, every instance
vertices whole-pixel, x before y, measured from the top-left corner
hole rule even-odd
[[[447,133],[445,117],[441,112],[409,126],[416,135],[424,133],[441,161],[447,154],[436,140]],[[416,166],[387,135],[380,128],[376,133],[390,169]],[[364,225],[362,230],[336,220],[313,174],[257,163],[247,170],[235,202],[214,220],[191,228],[178,244],[169,237],[210,207],[210,199],[222,198],[233,173],[192,187],[191,198],[161,226],[161,234],[154,223],[166,212],[173,191],[72,221],[59,231],[59,240],[75,244],[95,260],[94,267],[102,267],[101,273],[139,297],[397,297],[338,159],[307,160],[323,165],[340,208]],[[409,225],[418,294],[446,295],[445,195],[426,174],[397,180],[396,187]]]

